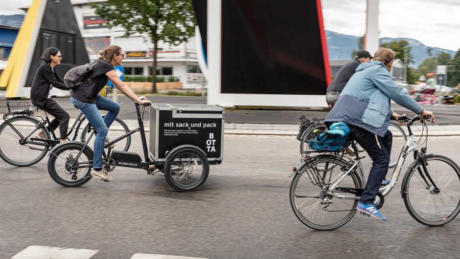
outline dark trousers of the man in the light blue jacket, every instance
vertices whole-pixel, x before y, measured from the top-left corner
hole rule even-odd
[[[357,126],[348,125],[348,127],[351,129],[350,136],[368,152],[372,159],[368,182],[359,201],[364,204],[373,204],[382,180],[388,172],[393,134],[387,130],[385,135],[381,137]]]

